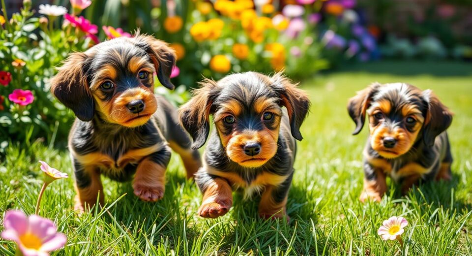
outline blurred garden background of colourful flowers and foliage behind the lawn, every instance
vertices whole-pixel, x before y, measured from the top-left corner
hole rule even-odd
[[[180,86],[156,87],[176,105],[203,76],[283,70],[303,81],[365,62],[472,60],[472,0],[1,2],[0,154],[12,143],[65,145],[74,117],[49,93],[55,67],[137,29],[176,51]]]

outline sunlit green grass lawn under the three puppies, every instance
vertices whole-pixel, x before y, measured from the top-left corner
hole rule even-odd
[[[257,199],[243,201],[238,194],[226,216],[199,218],[200,192],[185,180],[175,154],[167,172],[166,194],[157,203],[140,201],[130,183],[104,179],[107,207],[94,215],[77,216],[72,211],[73,180],[66,179],[47,189],[40,215],[53,219],[67,234],[67,245],[56,255],[472,254],[471,70],[467,64],[374,63],[302,83],[312,108],[301,129],[305,139],[299,143],[288,200],[290,224],[260,220]],[[351,135],[354,123],[346,103],[355,91],[374,81],[431,88],[455,112],[449,128],[452,182],[422,185],[407,196],[400,196],[389,183],[381,203],[358,201],[361,152],[368,132]],[[66,151],[38,143],[10,148],[0,164],[1,213],[7,209],[34,212],[42,178],[38,160],[71,174]],[[377,235],[382,221],[394,215],[409,222],[403,248]],[[1,241],[0,255],[14,255],[14,244]]]

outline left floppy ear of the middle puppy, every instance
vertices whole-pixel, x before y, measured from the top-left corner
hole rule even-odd
[[[218,85],[215,81],[204,79],[200,82],[200,88],[193,92],[192,98],[178,109],[182,126],[192,136],[192,149],[201,148],[207,141],[212,97],[217,91]]]

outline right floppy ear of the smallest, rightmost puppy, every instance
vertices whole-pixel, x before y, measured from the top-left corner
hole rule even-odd
[[[423,91],[421,96],[428,103],[428,110],[423,125],[423,141],[426,146],[431,147],[434,145],[436,136],[451,125],[453,114],[431,90]]]

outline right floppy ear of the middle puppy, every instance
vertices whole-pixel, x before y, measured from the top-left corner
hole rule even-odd
[[[297,140],[302,140],[300,127],[308,114],[310,100],[303,90],[296,87],[298,84],[294,84],[281,72],[273,75],[272,80],[274,81],[272,87],[279,94],[281,104],[287,108],[292,136]]]

